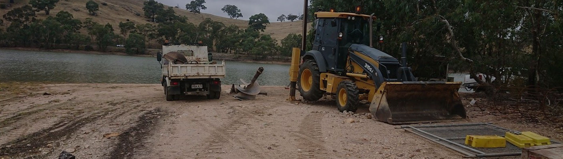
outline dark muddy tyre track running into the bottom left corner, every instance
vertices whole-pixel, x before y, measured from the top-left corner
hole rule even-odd
[[[73,134],[75,131],[81,129],[84,125],[90,124],[99,120],[100,118],[108,115],[110,112],[117,110],[118,108],[114,108],[113,110],[105,111],[105,112],[97,112],[92,115],[83,117],[82,119],[72,120],[72,122],[68,122],[66,120],[61,120],[54,124],[50,128],[43,129],[37,131],[32,134],[25,135],[22,138],[16,139],[12,142],[3,144],[0,146],[0,157],[3,156],[25,156],[28,154],[26,158],[34,158],[35,157],[44,157],[46,154],[41,154],[39,148],[41,146],[47,146],[48,143],[53,141],[59,141],[62,139],[70,138],[70,134]],[[65,117],[66,119],[73,119],[74,115],[70,115]],[[35,146],[27,146],[26,144],[33,143]],[[53,142],[53,144],[57,144]],[[10,148],[6,148],[6,146],[11,146]]]

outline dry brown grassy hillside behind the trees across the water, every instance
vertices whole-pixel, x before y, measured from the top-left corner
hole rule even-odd
[[[6,12],[12,10],[15,7],[21,7],[25,4],[28,4],[29,0],[15,0],[16,3],[12,4],[11,7],[0,9],[0,15],[6,14]],[[86,10],[86,2],[88,0],[60,0],[57,3],[57,6],[51,11],[51,16],[55,16],[59,11],[68,11],[74,15],[76,19],[84,20],[88,17],[92,18],[94,21],[99,22],[101,24],[109,24],[114,26],[114,29],[117,31],[119,30],[118,24],[121,21],[132,21],[135,24],[145,24],[149,21],[146,21],[144,17],[144,12],[142,10],[143,2],[142,0],[95,0],[97,3],[100,4],[100,11],[98,11],[97,16],[91,16],[88,14],[88,10]],[[0,3],[7,3],[8,0],[2,0]],[[108,3],[107,6],[102,5],[101,3],[105,2]],[[168,7],[168,6],[165,6]],[[175,8],[177,15],[187,16],[188,21],[199,24],[206,18],[211,18],[215,21],[220,21],[225,25],[238,25],[240,28],[247,28],[248,21],[246,20],[236,20],[236,19],[229,19],[226,17],[215,16],[207,13],[191,13],[187,10],[182,10],[181,8]],[[139,13],[140,16],[137,16],[136,13]],[[43,11],[37,12],[37,16],[40,19],[44,19],[48,17],[45,15]],[[274,17],[270,17],[270,21],[274,21]],[[301,33],[301,21],[293,21],[293,22],[272,22],[270,25],[267,26],[264,34],[270,34],[272,38],[282,40],[285,36],[290,33]]]

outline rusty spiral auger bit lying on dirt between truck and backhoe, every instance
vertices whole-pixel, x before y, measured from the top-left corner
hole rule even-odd
[[[262,71],[264,71],[263,67],[258,68],[250,83],[247,83],[243,79],[240,79],[241,83],[243,83],[242,86],[233,84],[231,93],[236,93],[233,97],[239,99],[240,101],[256,99],[256,94],[261,93],[260,84],[258,84],[258,81],[256,81],[256,79],[258,79],[258,76],[262,74]]]

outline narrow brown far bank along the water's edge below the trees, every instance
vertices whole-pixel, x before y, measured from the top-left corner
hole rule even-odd
[[[139,57],[156,57],[157,52],[160,49],[147,49],[146,54],[129,54],[125,53],[125,48],[122,47],[109,47],[108,52],[101,51],[84,51],[79,49],[44,49],[44,48],[32,48],[32,47],[2,47],[0,49],[6,50],[18,50],[18,51],[44,51],[44,52],[61,52],[61,53],[86,53],[86,54],[115,54],[123,56],[139,56]],[[215,60],[225,60],[225,61],[239,61],[239,62],[254,62],[254,63],[270,63],[270,64],[280,64],[289,65],[291,64],[290,57],[268,57],[270,60],[256,60],[254,56],[248,56],[245,54],[230,54],[230,53],[216,53],[213,52],[213,58]]]

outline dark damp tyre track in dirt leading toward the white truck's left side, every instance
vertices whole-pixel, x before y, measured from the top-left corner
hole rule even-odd
[[[135,153],[150,152],[146,147],[149,144],[146,140],[153,134],[162,113],[159,108],[156,108],[139,116],[135,126],[119,135],[118,142],[108,157],[111,159],[133,158]]]

